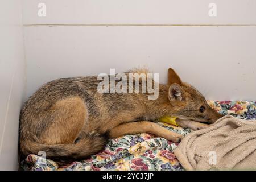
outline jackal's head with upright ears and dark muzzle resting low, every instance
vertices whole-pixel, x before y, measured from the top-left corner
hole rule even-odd
[[[212,109],[196,88],[181,81],[174,69],[168,69],[168,98],[174,106],[175,115],[181,119],[214,123],[222,115]]]

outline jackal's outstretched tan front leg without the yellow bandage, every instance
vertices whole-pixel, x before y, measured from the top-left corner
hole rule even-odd
[[[150,121],[130,122],[118,125],[110,130],[109,135],[110,138],[117,138],[126,134],[139,133],[151,133],[156,135],[156,137],[163,137],[167,140],[171,140],[172,142],[180,142],[183,138],[183,135],[167,130],[164,127]]]

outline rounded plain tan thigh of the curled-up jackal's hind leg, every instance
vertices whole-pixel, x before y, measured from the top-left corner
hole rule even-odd
[[[66,98],[57,101],[47,111],[51,114],[52,125],[48,127],[42,137],[42,143],[62,144],[73,143],[85,123],[86,107],[79,97]],[[46,113],[43,113],[46,114]]]

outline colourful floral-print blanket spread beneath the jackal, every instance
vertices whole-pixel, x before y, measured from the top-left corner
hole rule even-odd
[[[221,114],[231,114],[241,119],[256,119],[256,102],[208,101]],[[157,122],[157,121],[156,121]],[[168,130],[182,135],[191,132],[157,122]],[[24,170],[184,170],[172,153],[177,143],[150,134],[125,135],[110,139],[105,149],[88,159],[76,161],[68,166],[58,166],[54,161],[38,155],[28,155],[21,162]]]

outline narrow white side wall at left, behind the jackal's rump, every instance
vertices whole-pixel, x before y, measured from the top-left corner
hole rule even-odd
[[[25,62],[21,1],[0,1],[0,170],[18,169],[19,111]]]

